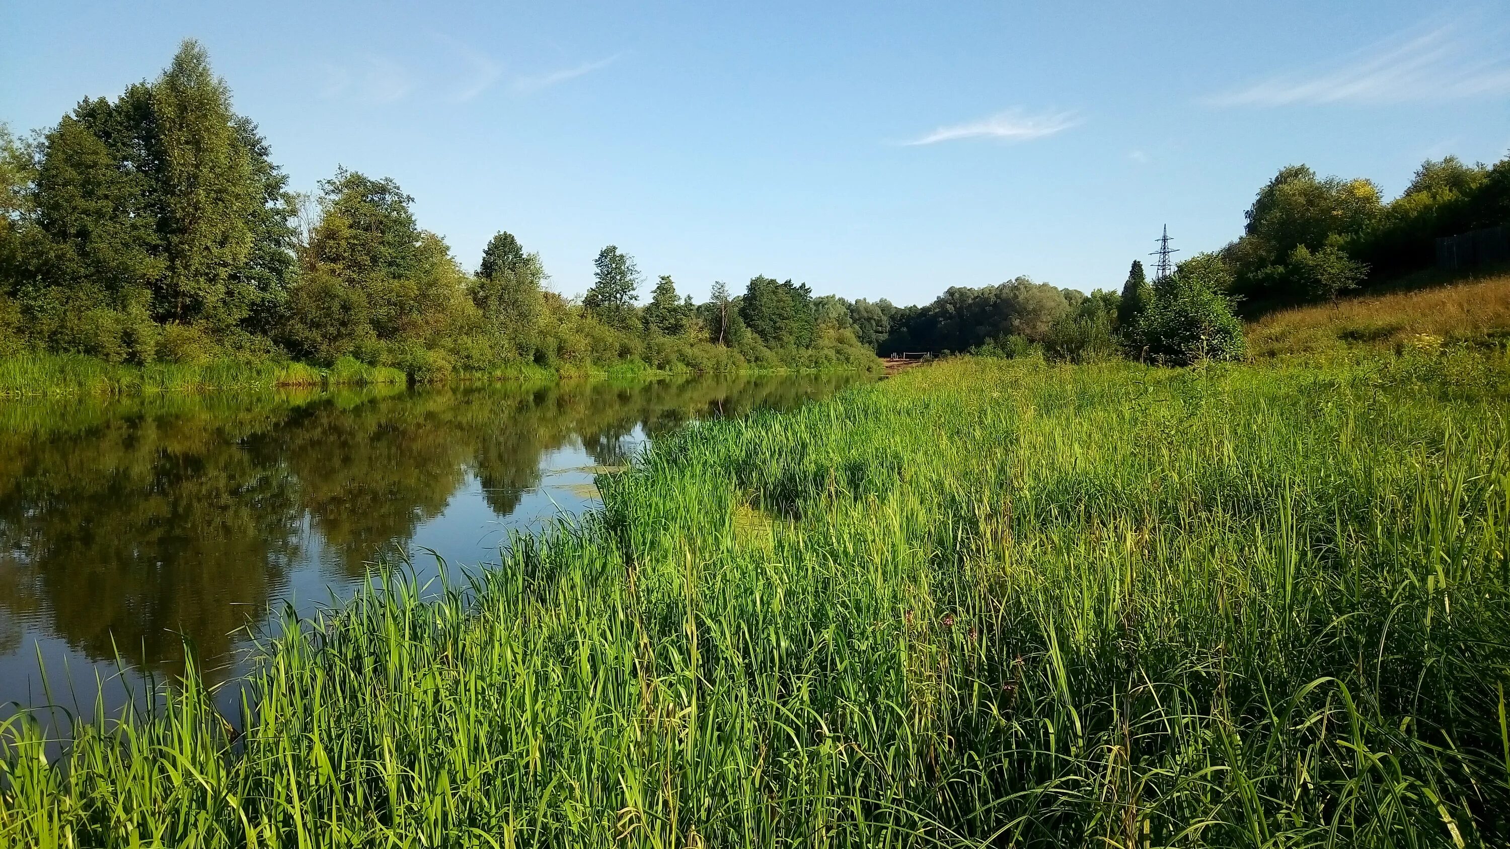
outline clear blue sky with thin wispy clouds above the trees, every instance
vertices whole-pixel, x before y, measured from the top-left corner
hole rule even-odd
[[[0,121],[210,50],[294,188],[396,178],[474,267],[498,229],[581,293],[806,280],[920,303],[1114,288],[1169,225],[1237,237],[1280,166],[1398,193],[1510,151],[1510,3],[0,0]]]

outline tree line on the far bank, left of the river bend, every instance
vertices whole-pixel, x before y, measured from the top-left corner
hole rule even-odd
[[[758,276],[705,303],[607,246],[577,302],[509,232],[467,273],[391,178],[288,190],[196,42],[153,81],[0,131],[0,354],[109,362],[356,360],[418,380],[519,365],[856,366],[871,353],[806,285]]]

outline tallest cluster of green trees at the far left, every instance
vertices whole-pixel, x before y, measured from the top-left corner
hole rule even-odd
[[[32,344],[149,362],[157,324],[204,324],[222,344],[276,320],[284,176],[195,42],[154,83],[80,103],[35,169],[6,173],[5,277]]]

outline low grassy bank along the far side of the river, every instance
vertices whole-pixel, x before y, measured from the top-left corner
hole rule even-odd
[[[874,359],[874,357],[871,357]],[[853,359],[806,363],[766,362],[738,368],[717,368],[714,374],[775,374],[784,371],[862,371],[880,372],[874,363]],[[211,359],[199,363],[154,362],[148,365],[110,363],[83,354],[26,353],[0,357],[0,398],[47,395],[134,395],[153,392],[211,392],[273,389],[281,386],[379,386],[405,383],[467,383],[486,380],[557,380],[578,377],[652,379],[669,374],[699,374],[692,366],[657,368],[640,360],[621,363],[563,363],[545,368],[515,363],[489,371],[448,371],[417,375],[397,368],[343,359],[332,366],[285,360]]]

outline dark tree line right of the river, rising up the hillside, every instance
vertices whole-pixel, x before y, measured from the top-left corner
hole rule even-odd
[[[1086,296],[1018,277],[953,287],[921,306],[843,306],[855,335],[882,354],[1237,359],[1246,351],[1241,318],[1388,285],[1430,268],[1436,238],[1510,223],[1510,157],[1493,166],[1427,160],[1391,202],[1373,181],[1288,166],[1244,217],[1243,235],[1164,279],[1149,280],[1134,261],[1120,291]]]

